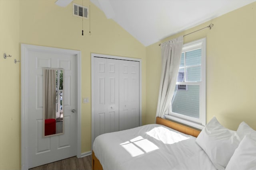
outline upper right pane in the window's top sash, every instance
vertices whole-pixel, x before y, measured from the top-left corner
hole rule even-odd
[[[201,65],[201,49],[186,52],[186,66]]]

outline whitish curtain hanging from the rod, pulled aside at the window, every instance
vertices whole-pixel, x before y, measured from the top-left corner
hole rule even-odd
[[[172,101],[178,77],[183,36],[162,43],[162,75],[156,117],[164,118]]]

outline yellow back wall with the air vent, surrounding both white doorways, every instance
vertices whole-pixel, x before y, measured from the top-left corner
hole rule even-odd
[[[74,1],[81,4],[80,0]],[[84,1],[89,6],[89,1]],[[72,16],[72,3],[62,8],[54,1],[20,1],[20,43],[80,50],[82,53],[82,97],[91,98],[91,53],[142,59],[142,115],[145,117],[146,48],[113,20],[91,4],[89,20]],[[82,99],[81,101],[82,102]],[[82,103],[82,151],[91,150],[91,103]],[[143,120],[143,119],[142,119]]]

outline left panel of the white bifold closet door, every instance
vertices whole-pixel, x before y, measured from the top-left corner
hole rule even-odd
[[[119,130],[118,60],[94,57],[94,139]]]

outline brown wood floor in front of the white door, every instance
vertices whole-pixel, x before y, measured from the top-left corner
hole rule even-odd
[[[76,156],[30,168],[29,170],[92,170],[92,155],[77,158]]]

